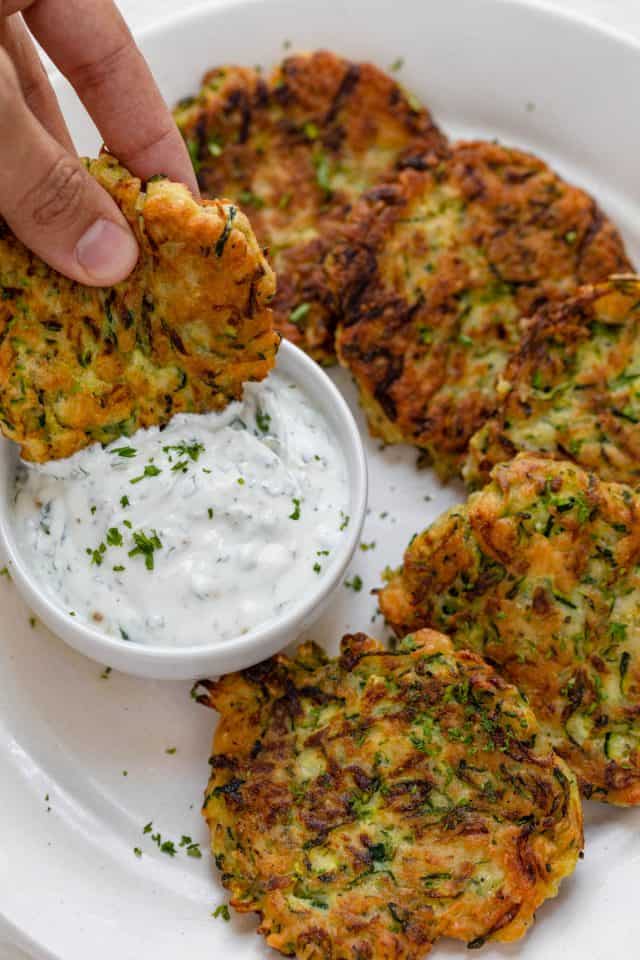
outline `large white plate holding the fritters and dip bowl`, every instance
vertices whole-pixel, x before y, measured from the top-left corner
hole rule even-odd
[[[274,62],[285,39],[383,67],[403,56],[403,81],[445,130],[536,150],[598,196],[640,263],[640,48],[513,0],[216,5],[154,29],[142,45],[173,101],[214,63]],[[62,86],[61,99],[79,147],[95,151],[95,132]],[[337,380],[353,401],[347,378]],[[399,561],[410,535],[461,493],[416,471],[411,451],[381,453],[370,440],[367,451],[363,539],[376,548],[353,563],[363,591],[344,589],[313,629],[331,646],[350,629],[384,636],[368,590]],[[213,715],[189,699],[187,684],[116,673],[101,679],[95,664],[29,625],[4,580],[0,604],[0,909],[15,942],[61,960],[269,956],[250,918],[226,924],[210,916],[224,894],[206,856],[171,859],[142,834],[152,820],[163,836],[188,833],[206,849],[198,808]],[[173,746],[177,752],[166,754]],[[479,956],[636,956],[640,810],[587,804],[587,821],[585,860],[540,910],[535,929],[520,944],[488,946]],[[434,955],[462,956],[464,946],[441,943]]]

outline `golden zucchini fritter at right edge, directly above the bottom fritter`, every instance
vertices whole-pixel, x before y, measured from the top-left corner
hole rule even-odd
[[[528,698],[587,797],[640,804],[640,499],[520,454],[418,536],[380,595]]]

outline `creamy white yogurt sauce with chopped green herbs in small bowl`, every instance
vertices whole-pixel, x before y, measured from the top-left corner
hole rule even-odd
[[[58,606],[175,647],[246,633],[316,587],[348,504],[326,419],[274,372],[222,413],[20,464],[13,523]]]

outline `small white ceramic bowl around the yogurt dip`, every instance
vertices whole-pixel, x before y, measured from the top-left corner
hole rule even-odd
[[[101,630],[70,617],[50,600],[29,568],[16,543],[11,522],[18,448],[8,440],[0,443],[0,548],[4,550],[11,576],[29,606],[50,630],[81,653],[124,673],[156,679],[196,679],[240,670],[271,656],[297,636],[322,612],[359,541],[367,504],[367,467],[360,433],[351,411],[326,373],[293,344],[283,340],[278,370],[300,384],[333,429],[336,444],[347,464],[350,523],[333,562],[314,583],[313,590],[287,607],[282,616],[223,643],[207,646],[160,647],[123,643]]]

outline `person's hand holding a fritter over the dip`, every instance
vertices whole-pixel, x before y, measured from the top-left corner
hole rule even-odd
[[[0,0],[0,214],[60,273],[108,286],[130,273],[138,247],[116,204],[78,160],[29,31],[132,173],[164,173],[197,195],[193,169],[111,0]]]

